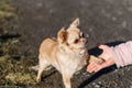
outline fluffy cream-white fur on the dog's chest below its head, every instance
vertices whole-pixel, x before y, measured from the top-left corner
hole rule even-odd
[[[74,74],[79,70],[82,66],[81,63],[86,58],[84,50],[73,51],[70,48],[59,48],[57,54],[58,65],[61,67],[61,72],[67,72],[69,74]]]

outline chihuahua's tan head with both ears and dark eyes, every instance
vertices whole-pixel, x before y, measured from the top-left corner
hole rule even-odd
[[[84,33],[77,28],[79,20],[76,19],[67,30],[62,29],[58,32],[59,44],[65,44],[70,48],[84,48],[86,45],[86,38]]]

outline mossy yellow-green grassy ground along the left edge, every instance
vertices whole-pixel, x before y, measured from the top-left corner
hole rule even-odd
[[[0,0],[0,88],[21,88],[35,80],[26,57],[19,51],[20,34],[10,32],[14,26],[11,21],[16,18],[11,0]]]

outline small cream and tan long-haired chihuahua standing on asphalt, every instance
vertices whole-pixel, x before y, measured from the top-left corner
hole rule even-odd
[[[41,81],[43,70],[52,65],[62,74],[65,88],[72,88],[70,78],[87,65],[88,58],[87,41],[78,25],[79,19],[76,19],[67,30],[63,28],[57,33],[56,40],[46,38],[43,41],[38,55],[37,82]]]

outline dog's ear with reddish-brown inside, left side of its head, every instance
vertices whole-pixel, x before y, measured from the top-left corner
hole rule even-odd
[[[65,43],[67,40],[67,32],[64,30],[64,28],[58,32],[57,40],[59,43]]]

